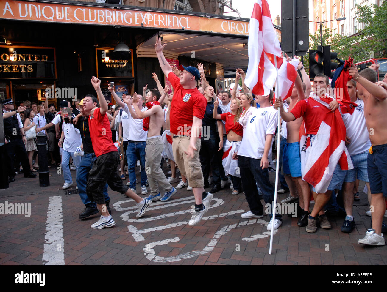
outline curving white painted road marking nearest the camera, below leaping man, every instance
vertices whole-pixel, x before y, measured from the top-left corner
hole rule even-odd
[[[238,210],[238,211],[242,211],[242,210]],[[233,211],[233,212],[235,212],[235,211]],[[242,212],[244,212],[244,211],[242,211]],[[232,212],[224,213],[224,214],[226,214],[226,216],[227,216],[227,215],[231,215],[230,213],[232,213]],[[223,214],[221,214],[221,215],[223,215]],[[219,215],[219,217],[221,217],[221,216]],[[203,219],[205,219],[205,218],[203,218]],[[256,224],[256,223],[268,224],[269,222],[266,222],[262,219],[250,219],[248,221],[240,222],[239,224],[235,223],[232,225],[224,226],[214,234],[214,236],[211,238],[211,240],[207,244],[207,246],[205,246],[203,248],[203,250],[201,250],[201,251],[191,251],[189,253],[183,253],[183,254],[177,255],[177,256],[168,256],[168,257],[157,256],[155,251],[154,251],[154,247],[157,245],[165,245],[165,244],[168,244],[170,242],[178,242],[180,240],[180,238],[175,237],[175,238],[164,239],[162,241],[156,241],[156,242],[147,244],[145,246],[145,248],[143,249],[144,255],[146,255],[146,258],[148,260],[151,260],[151,261],[154,261],[157,263],[180,261],[182,259],[192,258],[192,257],[197,256],[197,255],[203,255],[205,253],[209,253],[210,251],[212,251],[214,249],[214,247],[216,246],[218,239],[222,235],[228,233],[230,230],[235,229],[236,227],[239,227],[239,226],[246,226],[246,225]],[[278,232],[278,229],[274,231],[274,233],[277,233],[277,232]],[[259,238],[269,237],[269,235],[270,235],[270,231],[267,231],[267,232],[264,232],[263,234],[253,235],[251,238],[243,238],[242,240],[252,241],[255,239],[259,239]]]

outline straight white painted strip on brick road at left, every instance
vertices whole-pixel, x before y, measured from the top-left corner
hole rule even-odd
[[[62,196],[49,197],[43,265],[64,265]]]

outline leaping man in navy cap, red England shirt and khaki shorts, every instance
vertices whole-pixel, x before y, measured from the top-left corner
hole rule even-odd
[[[207,212],[213,195],[204,191],[204,179],[200,165],[200,129],[207,106],[207,100],[197,90],[196,84],[200,80],[199,70],[195,67],[180,66],[180,79],[173,73],[166,61],[159,37],[156,38],[156,51],[161,70],[171,82],[173,94],[170,109],[170,131],[173,135],[173,157],[187,179],[195,196],[195,211],[188,225],[193,226],[200,222]]]

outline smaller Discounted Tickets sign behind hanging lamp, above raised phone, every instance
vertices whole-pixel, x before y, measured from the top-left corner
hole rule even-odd
[[[132,50],[114,55],[113,48],[96,49],[97,77],[133,77],[132,54]]]

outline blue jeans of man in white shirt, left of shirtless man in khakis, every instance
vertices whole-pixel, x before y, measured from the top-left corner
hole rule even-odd
[[[141,166],[141,186],[146,185],[147,176],[145,170],[145,146],[144,142],[129,142],[126,148],[126,159],[128,162],[128,174],[130,180],[130,188],[136,189],[136,171],[137,160],[140,160]]]

